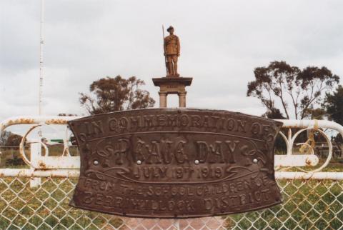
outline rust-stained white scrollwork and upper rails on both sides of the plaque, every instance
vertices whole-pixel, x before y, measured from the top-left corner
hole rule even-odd
[[[6,127],[13,126],[13,125],[20,125],[20,124],[31,124],[31,129],[26,132],[24,135],[21,145],[20,145],[20,153],[21,157],[24,159],[26,164],[31,166],[33,169],[79,169],[80,167],[80,159],[79,156],[69,156],[69,146],[68,146],[68,136],[64,137],[64,152],[66,151],[67,154],[64,156],[41,156],[39,153],[31,152],[31,160],[26,157],[25,148],[24,148],[24,140],[26,136],[34,129],[39,126],[44,125],[64,125],[66,126],[66,122],[72,119],[78,119],[78,116],[17,116],[13,118],[6,119],[0,123],[0,132],[6,129]],[[296,140],[297,136],[299,136],[302,131],[307,131],[309,129],[315,129],[320,134],[324,136],[327,140],[327,144],[329,146],[328,157],[327,161],[319,167],[319,169],[314,169],[314,171],[321,171],[324,169],[325,166],[329,163],[332,158],[332,143],[329,139],[329,136],[325,134],[321,129],[334,129],[338,131],[343,136],[343,126],[332,122],[332,121],[322,121],[322,120],[278,120],[283,122],[282,128],[289,129],[288,136],[286,136],[283,132],[280,132],[280,135],[284,138],[284,141],[287,145],[287,154],[286,155],[275,155],[274,157],[274,165],[275,166],[316,166],[319,163],[318,156],[314,154],[312,149],[312,154],[294,154],[294,141]],[[300,129],[297,131],[296,134],[292,135],[292,128]],[[46,147],[41,140],[36,140],[33,142],[39,142],[44,148],[46,152],[49,152],[49,149]],[[303,143],[306,144],[306,143]],[[34,146],[35,147],[35,146]],[[311,147],[311,146],[309,146]],[[40,149],[39,146],[36,149]]]

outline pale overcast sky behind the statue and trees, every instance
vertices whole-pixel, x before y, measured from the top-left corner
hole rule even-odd
[[[52,1],[44,24],[43,114],[86,114],[79,92],[104,76],[165,76],[161,25],[181,41],[187,106],[261,115],[257,66],[284,60],[343,76],[343,1]],[[40,1],[0,0],[0,120],[38,114]],[[177,96],[169,99],[177,106]]]

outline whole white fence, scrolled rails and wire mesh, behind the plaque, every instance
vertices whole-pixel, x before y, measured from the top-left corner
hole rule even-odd
[[[323,129],[343,134],[343,127],[332,121],[280,120],[286,130],[280,135],[287,153],[275,155],[274,165],[283,204],[244,214],[174,221],[129,219],[68,205],[79,177],[79,156],[69,154],[66,121],[77,118],[23,116],[0,123],[0,132],[13,125],[31,125],[20,146],[29,169],[0,169],[0,229],[343,229],[342,164],[334,171],[325,171],[332,160],[332,143]],[[52,125],[66,126],[61,154],[51,156],[43,141],[29,140],[28,157],[24,140],[35,128]],[[294,128],[299,131],[292,134]],[[327,141],[324,163],[314,154],[313,144],[296,143],[297,136],[307,130],[316,131]],[[299,144],[309,150],[307,154],[297,152]],[[39,154],[42,146],[44,156]],[[31,181],[35,179],[40,182],[32,188]]]

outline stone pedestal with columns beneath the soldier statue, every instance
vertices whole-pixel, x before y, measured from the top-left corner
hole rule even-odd
[[[179,107],[186,107],[186,86],[192,84],[192,77],[160,77],[153,78],[155,86],[159,86],[159,107],[166,108],[168,94],[179,96]]]

